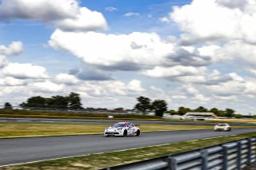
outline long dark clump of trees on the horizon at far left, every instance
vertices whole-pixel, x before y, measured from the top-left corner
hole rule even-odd
[[[57,108],[57,109],[82,109],[81,97],[78,93],[70,93],[68,96],[30,97],[23,102],[21,107]]]

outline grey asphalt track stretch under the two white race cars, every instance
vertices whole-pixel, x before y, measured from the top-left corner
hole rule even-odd
[[[255,128],[236,128],[232,132],[193,130],[142,132],[142,136],[103,137],[102,135],[31,137],[0,140],[0,165],[19,164],[88,153],[138,148],[184,140],[255,132]]]

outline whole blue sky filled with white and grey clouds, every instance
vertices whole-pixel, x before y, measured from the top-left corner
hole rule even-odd
[[[0,105],[79,93],[255,113],[255,0],[0,0]]]

